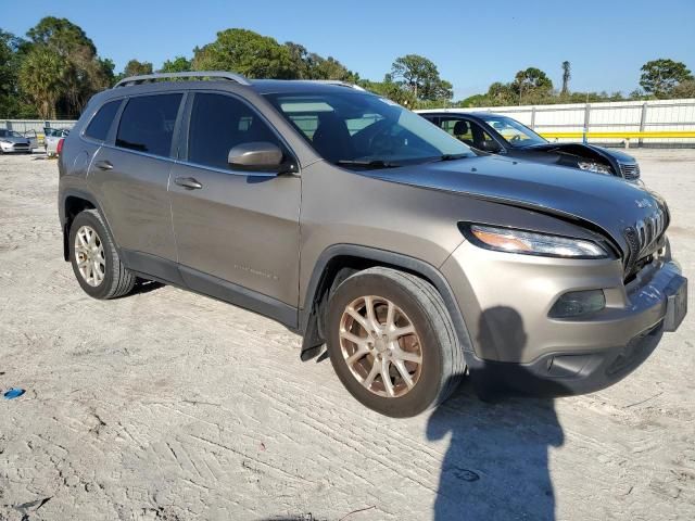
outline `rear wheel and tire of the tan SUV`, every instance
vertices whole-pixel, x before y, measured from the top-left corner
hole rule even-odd
[[[92,230],[96,237],[89,234],[89,230]],[[81,241],[77,238],[78,233],[81,236]],[[85,293],[94,298],[108,300],[126,295],[132,290],[136,276],[121,262],[113,238],[98,211],[86,209],[75,217],[70,228],[68,241],[73,271]],[[76,244],[76,241],[86,246]],[[87,258],[93,262],[83,264],[88,265],[85,268],[87,275],[84,275],[79,263]],[[90,277],[90,275],[93,276]]]

